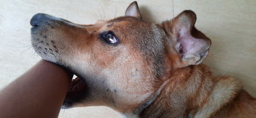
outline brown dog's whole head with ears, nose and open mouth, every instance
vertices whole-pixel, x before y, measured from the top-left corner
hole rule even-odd
[[[154,100],[170,72],[206,57],[210,40],[195,21],[194,12],[184,11],[162,24],[144,22],[133,2],[125,16],[92,25],[47,14],[36,14],[30,24],[36,52],[78,76],[64,108],[108,106],[131,113]]]

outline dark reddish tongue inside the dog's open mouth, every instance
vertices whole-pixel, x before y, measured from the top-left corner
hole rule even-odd
[[[84,87],[86,87],[85,82],[83,82],[82,79],[76,77],[74,80],[71,81],[68,92],[82,91],[84,90]]]

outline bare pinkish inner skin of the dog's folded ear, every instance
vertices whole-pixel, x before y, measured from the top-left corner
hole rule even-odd
[[[186,28],[180,29],[178,42],[180,42],[180,54],[184,57],[196,54],[204,46],[204,41],[200,38],[191,36],[189,29],[187,30]]]

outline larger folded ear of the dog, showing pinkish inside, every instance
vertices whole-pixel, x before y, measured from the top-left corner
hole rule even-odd
[[[179,67],[197,65],[204,60],[209,52],[211,40],[195,28],[196,14],[186,10],[170,21],[162,23],[172,39],[180,58],[176,64]]]

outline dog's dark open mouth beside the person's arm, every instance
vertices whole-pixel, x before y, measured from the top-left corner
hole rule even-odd
[[[62,109],[67,109],[72,107],[74,104],[81,102],[85,99],[87,92],[86,82],[79,77],[72,79],[66,98],[62,104]]]

